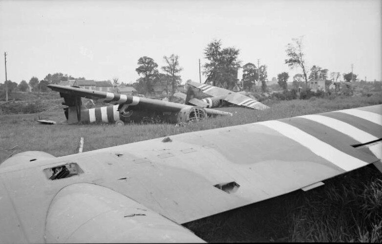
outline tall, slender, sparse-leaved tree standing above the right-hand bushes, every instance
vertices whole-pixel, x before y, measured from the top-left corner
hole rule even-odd
[[[302,37],[293,38],[293,43],[288,43],[287,49],[285,50],[288,58],[285,59],[285,64],[288,64],[289,68],[300,67],[302,69],[305,85],[308,85],[308,78],[305,71],[305,60],[304,53],[302,50]]]

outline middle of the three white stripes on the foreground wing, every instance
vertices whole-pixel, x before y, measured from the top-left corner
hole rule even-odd
[[[361,143],[366,143],[374,140],[378,140],[379,138],[375,137],[374,135],[371,135],[365,131],[361,131],[360,129],[349,125],[345,122],[342,122],[338,119],[334,119],[331,117],[326,117],[318,114],[311,114],[311,115],[303,115],[303,116],[298,116],[300,118],[305,118],[309,120],[313,120],[317,123],[320,123],[322,125],[325,125],[327,127],[330,127],[336,131],[339,131],[345,135],[348,135],[352,137],[353,139],[361,142]]]

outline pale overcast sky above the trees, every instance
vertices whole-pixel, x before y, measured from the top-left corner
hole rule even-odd
[[[304,36],[307,65],[382,80],[381,0],[0,0],[0,51],[8,79],[62,72],[134,82],[141,56],[165,65],[179,56],[183,82],[199,81],[198,59],[213,39],[240,49],[242,64],[268,66],[268,78],[301,73],[284,64]],[[1,62],[3,63],[3,61]],[[0,80],[5,80],[1,65]],[[239,77],[241,78],[241,77]],[[204,78],[202,77],[202,80]],[[291,80],[291,79],[290,79]]]

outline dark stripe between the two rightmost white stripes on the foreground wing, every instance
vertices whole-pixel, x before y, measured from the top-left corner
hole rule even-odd
[[[366,131],[367,133],[372,134],[378,138],[382,138],[382,126],[368,120],[347,113],[329,112],[322,113],[322,115],[338,119],[349,125],[357,127],[361,131]]]

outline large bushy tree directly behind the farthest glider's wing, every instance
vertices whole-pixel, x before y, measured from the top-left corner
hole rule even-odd
[[[237,69],[240,63],[237,58],[239,49],[234,47],[221,47],[221,40],[213,40],[204,49],[205,58],[209,60],[204,64],[203,74],[207,75],[207,81],[212,85],[227,89],[233,89],[237,80]]]

